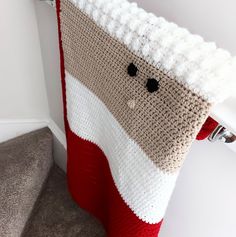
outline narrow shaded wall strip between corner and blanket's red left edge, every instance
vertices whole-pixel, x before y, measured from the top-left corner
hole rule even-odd
[[[64,131],[56,11],[53,7],[40,1],[35,1],[35,9],[38,20],[50,117]]]

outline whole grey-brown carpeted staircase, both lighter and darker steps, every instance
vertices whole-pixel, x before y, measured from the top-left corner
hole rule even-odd
[[[0,236],[105,236],[71,199],[48,128],[0,144]]]

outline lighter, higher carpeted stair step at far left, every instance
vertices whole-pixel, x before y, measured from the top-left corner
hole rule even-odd
[[[43,128],[0,144],[0,236],[19,237],[53,163]]]

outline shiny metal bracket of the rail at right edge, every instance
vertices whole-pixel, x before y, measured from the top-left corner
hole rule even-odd
[[[208,140],[210,142],[222,141],[224,143],[232,143],[236,141],[236,136],[222,125],[218,125],[208,137]]]

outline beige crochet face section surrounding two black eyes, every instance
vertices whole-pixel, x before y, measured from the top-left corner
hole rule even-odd
[[[130,52],[69,0],[61,1],[61,30],[66,70],[107,106],[161,170],[176,172],[210,105]],[[138,67],[136,77],[127,73],[130,63]],[[161,80],[158,91],[148,92],[148,78]]]

